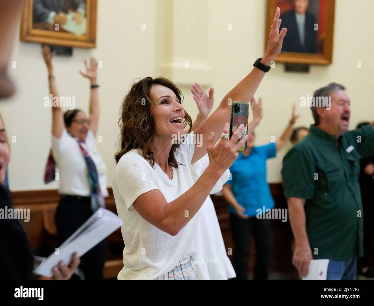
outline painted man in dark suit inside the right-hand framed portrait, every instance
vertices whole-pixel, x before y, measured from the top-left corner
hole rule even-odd
[[[292,0],[292,8],[281,15],[279,31],[287,28],[283,39],[282,52],[319,53],[316,23],[318,16],[310,10],[310,4],[317,8],[318,0]],[[291,7],[291,5],[290,5]],[[315,10],[313,10],[315,11]]]

